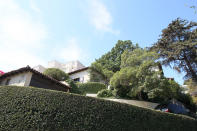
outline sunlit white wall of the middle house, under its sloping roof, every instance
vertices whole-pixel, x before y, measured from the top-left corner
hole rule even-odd
[[[81,83],[86,83],[86,82],[90,81],[89,70],[77,72],[77,73],[69,75],[69,76],[73,80],[76,79],[76,78],[79,78],[79,82],[81,82]]]

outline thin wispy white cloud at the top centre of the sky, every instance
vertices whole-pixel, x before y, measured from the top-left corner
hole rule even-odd
[[[120,33],[112,28],[112,16],[100,0],[88,0],[88,5],[90,22],[97,30],[111,32],[116,35]]]

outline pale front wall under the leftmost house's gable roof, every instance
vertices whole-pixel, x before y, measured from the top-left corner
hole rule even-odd
[[[30,72],[20,73],[14,76],[10,76],[1,81],[0,85],[16,85],[16,86],[28,86],[28,81],[31,79],[32,74]],[[9,82],[6,84],[6,82]]]

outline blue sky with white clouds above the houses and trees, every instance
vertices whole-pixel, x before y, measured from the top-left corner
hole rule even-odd
[[[180,17],[196,21],[196,0],[0,0],[0,70],[48,61],[89,66],[118,40],[154,44]],[[182,84],[183,74],[164,67]]]

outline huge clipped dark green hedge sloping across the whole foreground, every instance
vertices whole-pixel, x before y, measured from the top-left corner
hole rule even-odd
[[[33,87],[0,87],[0,130],[197,130],[191,118]]]

